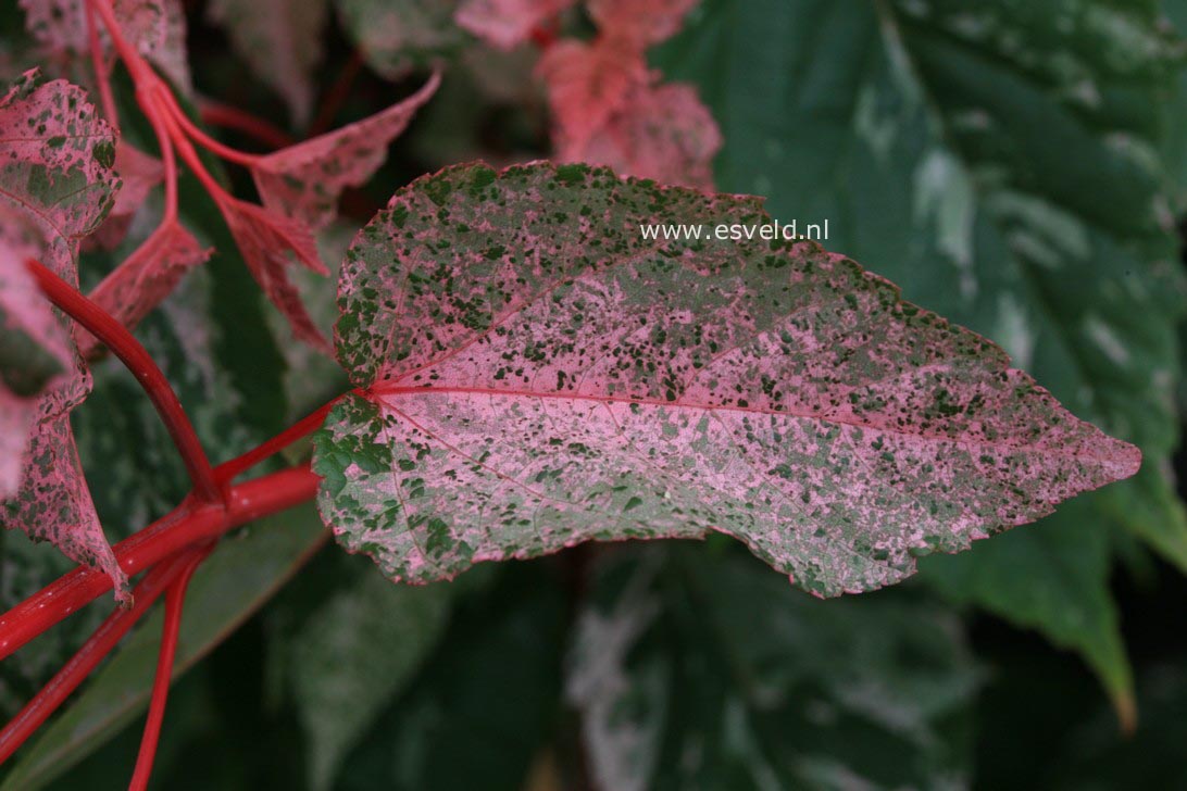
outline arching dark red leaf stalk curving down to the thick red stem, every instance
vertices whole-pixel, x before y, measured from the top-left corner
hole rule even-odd
[[[198,441],[198,435],[193,433],[190,419],[185,416],[185,410],[182,409],[182,403],[177,400],[169,379],[157,368],[140,342],[107,311],[83,296],[77,288],[46,269],[40,262],[30,260],[27,266],[50,301],[104,343],[140,382],[140,387],[148,394],[148,400],[157,408],[165,428],[169,429],[169,435],[182,454],[182,461],[185,463],[185,470],[190,474],[198,499],[203,503],[221,502],[222,493],[215,483],[210,461],[202,448],[202,442]]]

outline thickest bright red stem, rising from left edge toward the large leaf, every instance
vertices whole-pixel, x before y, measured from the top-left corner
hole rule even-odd
[[[226,510],[183,503],[115,544],[115,557],[126,574],[139,574],[186,547],[312,499],[319,483],[307,466],[293,467],[231,486]],[[80,566],[42,588],[0,615],[0,659],[110,589],[112,578],[89,566]]]

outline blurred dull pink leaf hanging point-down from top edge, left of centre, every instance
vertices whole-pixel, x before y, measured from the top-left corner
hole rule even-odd
[[[212,0],[209,17],[235,51],[288,104],[298,125],[313,109],[313,70],[322,62],[325,0]]]

